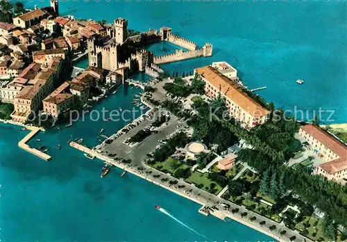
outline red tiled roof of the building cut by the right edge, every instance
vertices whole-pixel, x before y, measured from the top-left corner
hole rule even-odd
[[[347,169],[347,147],[343,145],[334,137],[330,136],[326,131],[321,129],[320,127],[316,127],[313,124],[307,124],[301,127],[303,131],[307,134],[313,136],[316,140],[322,143],[325,147],[328,147],[329,150],[334,152],[339,156],[338,159],[333,161],[325,162],[320,165],[320,167],[328,172],[329,174],[334,174],[335,172],[339,172],[341,170]]]

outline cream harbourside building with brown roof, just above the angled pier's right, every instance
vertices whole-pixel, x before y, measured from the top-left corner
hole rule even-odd
[[[58,118],[61,113],[74,106],[74,95],[70,93],[69,86],[68,82],[62,83],[42,101],[44,113]]]

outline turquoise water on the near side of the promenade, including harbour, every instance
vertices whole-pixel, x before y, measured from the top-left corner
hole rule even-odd
[[[131,108],[137,89],[119,88],[116,95],[95,106]],[[130,117],[127,117],[130,118]],[[136,118],[136,117],[135,117]],[[73,127],[41,132],[31,147],[46,145],[49,162],[17,146],[27,131],[0,124],[1,234],[3,241],[203,241],[205,238],[160,213],[155,204],[209,241],[271,241],[236,222],[223,222],[198,213],[199,205],[133,175],[121,178],[112,169],[100,178],[102,162],[90,160],[67,145],[83,138],[96,145],[100,129],[110,135],[124,122],[78,121]],[[40,138],[38,143],[35,139]],[[57,145],[62,145],[57,150]]]

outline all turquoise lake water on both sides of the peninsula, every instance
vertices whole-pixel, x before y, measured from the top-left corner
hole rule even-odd
[[[28,1],[27,8],[48,1]],[[276,106],[312,111],[335,110],[335,122],[347,122],[346,1],[177,2],[66,1],[62,15],[85,19],[128,19],[139,31],[171,26],[174,33],[201,47],[214,46],[210,58],[163,65],[169,73],[190,72],[212,61],[228,61],[246,86]],[[160,54],[160,47],[151,47]],[[171,49],[172,50],[172,49]],[[162,54],[166,51],[162,51]],[[81,65],[84,65],[81,63]],[[148,76],[139,74],[146,81]],[[296,79],[305,83],[299,86]],[[130,108],[137,89],[121,87],[95,108]],[[312,117],[312,113],[311,113]],[[100,129],[110,135],[126,122],[74,123],[40,133],[53,159],[37,159],[17,147],[25,131],[0,124],[0,239],[3,241],[202,241],[191,230],[153,208],[160,204],[210,241],[269,241],[239,223],[200,215],[199,206],[133,175],[113,169],[100,179],[101,161],[91,161],[66,144],[84,138],[98,143]],[[56,150],[60,143],[62,149]]]

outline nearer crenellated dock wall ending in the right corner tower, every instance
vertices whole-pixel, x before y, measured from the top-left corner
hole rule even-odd
[[[154,56],[153,63],[160,65],[164,63],[171,63],[175,61],[183,61],[196,57],[212,56],[212,45],[206,43],[203,48],[192,51],[183,51],[183,49],[176,49],[176,53],[164,56]]]

